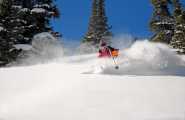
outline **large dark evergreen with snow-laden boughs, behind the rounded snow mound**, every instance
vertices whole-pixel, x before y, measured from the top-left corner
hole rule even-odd
[[[59,13],[52,0],[11,2],[9,13],[2,15],[0,23],[7,29],[7,38],[11,38],[15,44],[30,44],[33,36],[41,32],[54,33],[49,21],[52,17],[58,17]]]

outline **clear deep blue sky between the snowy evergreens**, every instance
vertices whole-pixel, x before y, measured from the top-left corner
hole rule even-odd
[[[149,21],[153,7],[150,0],[105,1],[108,23],[114,35],[130,34],[139,38],[151,36]],[[185,0],[181,1],[185,3]],[[82,39],[87,32],[92,0],[57,0],[56,3],[61,17],[52,21],[54,30],[62,33],[66,39]]]

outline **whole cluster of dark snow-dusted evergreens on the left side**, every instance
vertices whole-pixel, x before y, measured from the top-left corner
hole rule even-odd
[[[58,37],[49,26],[52,17],[59,17],[53,0],[3,0],[0,5],[1,58],[6,59],[6,63],[15,60],[19,52],[12,55],[9,51],[13,51],[16,44],[31,44],[38,33],[50,32]]]

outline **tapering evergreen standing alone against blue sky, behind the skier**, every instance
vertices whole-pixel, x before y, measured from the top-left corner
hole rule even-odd
[[[88,32],[84,37],[84,43],[92,43],[98,45],[102,39],[105,42],[110,42],[112,33],[107,23],[105,13],[105,0],[93,0],[92,15],[90,17]]]

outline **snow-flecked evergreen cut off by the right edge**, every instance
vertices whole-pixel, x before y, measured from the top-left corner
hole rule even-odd
[[[170,45],[177,49],[178,53],[185,54],[185,11],[179,0],[173,0],[175,30]]]

